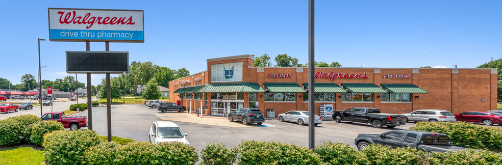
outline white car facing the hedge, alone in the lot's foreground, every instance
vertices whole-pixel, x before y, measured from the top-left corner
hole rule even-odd
[[[155,121],[150,127],[148,137],[153,144],[162,142],[181,142],[190,145],[186,138],[187,135],[188,133],[183,133],[180,126],[176,123],[171,121]]]

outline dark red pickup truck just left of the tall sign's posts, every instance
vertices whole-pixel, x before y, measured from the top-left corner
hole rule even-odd
[[[43,120],[54,120],[63,124],[64,128],[77,130],[80,127],[87,127],[87,116],[72,116],[66,117],[64,112],[45,113],[41,117]]]

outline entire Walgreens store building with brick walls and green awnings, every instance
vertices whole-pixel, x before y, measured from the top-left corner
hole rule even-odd
[[[382,113],[444,109],[453,114],[497,108],[496,69],[315,68],[315,95],[309,96],[308,68],[254,67],[250,55],[207,60],[207,70],[169,82],[169,101],[203,113],[227,116],[237,108],[259,108],[273,116],[308,111],[317,115],[350,107]],[[270,110],[270,112],[272,112]]]

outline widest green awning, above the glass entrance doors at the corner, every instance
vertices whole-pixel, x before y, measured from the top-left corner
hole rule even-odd
[[[206,84],[204,87],[198,88],[196,93],[215,93],[215,92],[265,92],[263,88],[256,82],[240,82],[240,83],[221,83],[221,84]]]

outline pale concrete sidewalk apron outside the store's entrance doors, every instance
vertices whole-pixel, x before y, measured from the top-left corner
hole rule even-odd
[[[250,123],[248,125],[243,125],[241,122],[230,122],[225,117],[215,117],[209,115],[203,115],[203,117],[197,117],[197,114],[192,113],[178,113],[178,112],[168,112],[168,113],[158,113],[155,114],[159,119],[166,121],[177,121],[177,122],[187,122],[194,124],[206,124],[222,127],[275,127],[269,124],[257,125]]]

